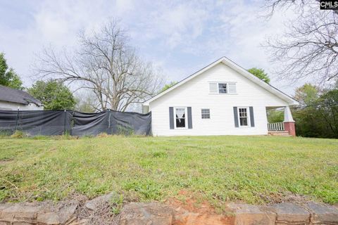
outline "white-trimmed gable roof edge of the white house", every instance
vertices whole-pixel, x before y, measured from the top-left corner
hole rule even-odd
[[[276,89],[271,84],[263,82],[263,80],[259,79],[255,75],[251,74],[250,72],[248,72],[247,70],[242,68],[240,65],[237,65],[232,60],[230,60],[229,58],[226,58],[224,56],[222,58],[218,59],[218,60],[215,60],[215,62],[207,65],[205,68],[202,68],[201,70],[195,72],[194,74],[190,75],[189,77],[182,79],[180,82],[171,86],[169,89],[157,94],[156,96],[154,96],[152,98],[149,98],[147,101],[144,101],[143,105],[149,105],[149,103],[151,103],[151,101],[154,101],[157,98],[161,98],[161,96],[167,94],[170,91],[173,91],[173,89],[176,89],[177,87],[181,86],[182,84],[189,82],[189,80],[194,79],[194,77],[201,75],[201,73],[205,72],[206,70],[213,68],[215,65],[218,65],[218,63],[224,63],[228,67],[230,67],[233,70],[239,72],[240,75],[243,75],[244,77],[250,79],[253,83],[258,84],[259,86],[261,86],[263,89],[266,89],[267,91],[270,91],[270,93],[275,94],[275,96],[282,98],[282,100],[286,101],[289,105],[299,105],[299,102],[296,101],[291,96],[288,96],[287,94],[280,91],[279,89]]]

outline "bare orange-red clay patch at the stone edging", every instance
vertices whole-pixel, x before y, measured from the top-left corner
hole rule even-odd
[[[187,191],[180,191],[178,198],[171,198],[166,203],[174,209],[173,225],[234,224],[231,213],[218,214],[208,201]]]

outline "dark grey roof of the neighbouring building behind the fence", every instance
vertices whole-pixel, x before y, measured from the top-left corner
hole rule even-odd
[[[37,106],[41,106],[41,101],[37,100],[26,91],[20,91],[17,89],[11,89],[8,86],[0,85],[0,101],[7,101],[10,103],[19,103],[28,105],[34,103]]]

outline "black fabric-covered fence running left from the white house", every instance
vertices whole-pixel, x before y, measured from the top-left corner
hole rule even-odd
[[[106,110],[80,113],[73,110],[0,110],[0,133],[16,130],[28,136],[61,135],[95,136],[97,134],[151,134],[151,113],[125,113]]]

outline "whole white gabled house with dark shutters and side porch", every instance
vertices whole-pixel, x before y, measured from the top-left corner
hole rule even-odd
[[[295,135],[290,105],[299,103],[228,58],[195,72],[145,101],[154,136]],[[284,122],[268,124],[266,110],[284,108]]]

